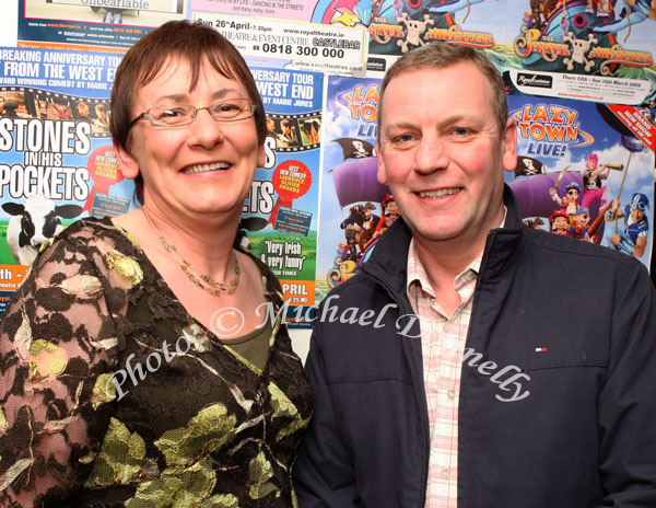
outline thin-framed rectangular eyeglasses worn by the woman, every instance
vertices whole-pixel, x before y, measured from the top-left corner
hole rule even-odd
[[[204,107],[196,107],[191,104],[165,104],[149,107],[145,113],[130,122],[130,127],[142,118],[148,118],[155,127],[180,127],[191,124],[201,109],[207,109],[216,122],[238,122],[255,115],[256,106],[250,99],[222,99]]]

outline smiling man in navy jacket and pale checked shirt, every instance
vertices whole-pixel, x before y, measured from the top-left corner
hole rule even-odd
[[[301,508],[656,506],[645,267],[522,226],[515,122],[471,48],[408,53],[378,107],[401,218],[317,313]]]

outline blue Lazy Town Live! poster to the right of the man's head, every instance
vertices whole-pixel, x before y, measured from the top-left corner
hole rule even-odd
[[[524,224],[651,265],[656,123],[645,107],[509,96]]]

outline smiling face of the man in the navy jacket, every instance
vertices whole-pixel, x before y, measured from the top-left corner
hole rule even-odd
[[[515,122],[499,131],[488,79],[469,62],[410,71],[383,101],[378,180],[415,241],[484,242],[503,220],[503,170],[517,162]]]

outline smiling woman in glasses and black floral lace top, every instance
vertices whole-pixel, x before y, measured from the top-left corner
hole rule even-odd
[[[124,58],[110,129],[143,206],[65,230],[3,319],[0,505],[294,506],[312,393],[265,319],[277,281],[231,249],[265,160],[250,72],[166,23]]]

